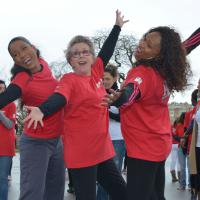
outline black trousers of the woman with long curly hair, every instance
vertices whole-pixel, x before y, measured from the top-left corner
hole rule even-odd
[[[165,161],[127,159],[128,200],[165,200]]]

